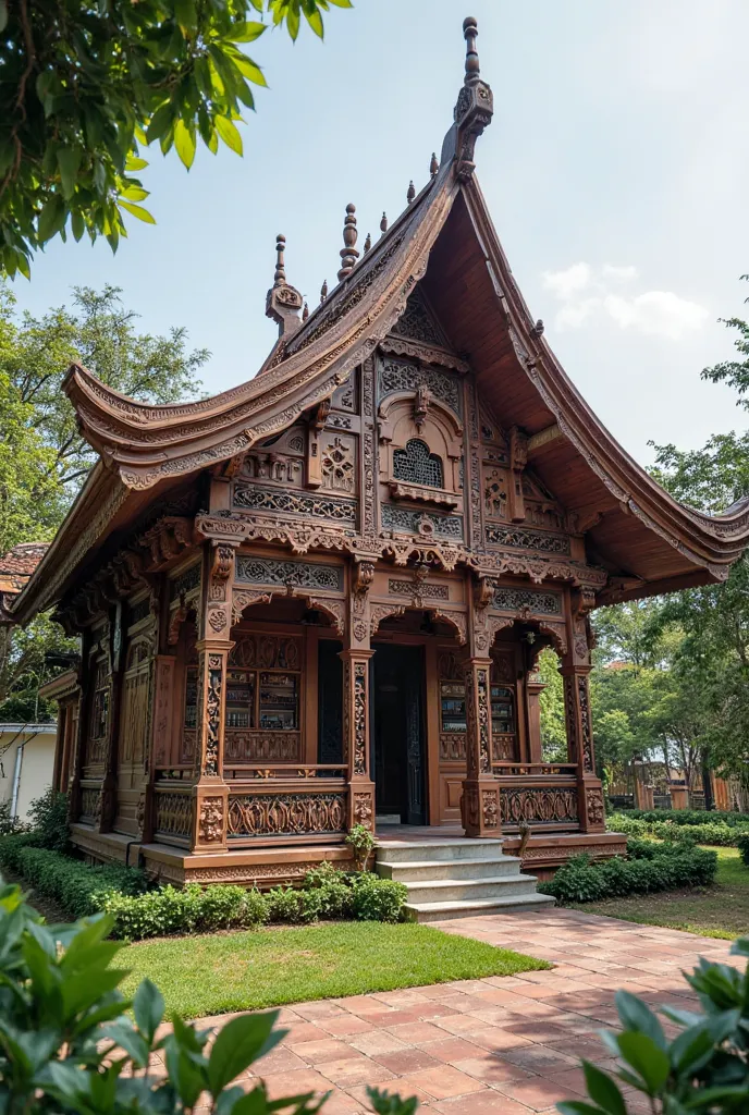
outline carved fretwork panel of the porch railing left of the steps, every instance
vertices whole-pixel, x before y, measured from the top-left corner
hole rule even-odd
[[[302,836],[344,830],[344,794],[230,795],[230,836]]]

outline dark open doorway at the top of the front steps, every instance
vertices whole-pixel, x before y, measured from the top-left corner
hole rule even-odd
[[[427,823],[424,648],[377,643],[371,739],[378,818]]]

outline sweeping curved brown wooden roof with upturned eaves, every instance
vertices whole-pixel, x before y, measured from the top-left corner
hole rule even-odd
[[[65,389],[101,462],[16,602],[19,618],[59,599],[156,491],[246,450],[330,398],[392,329],[418,282],[476,372],[481,397],[503,425],[526,432],[533,469],[578,516],[590,559],[610,573],[599,602],[728,575],[749,543],[749,504],[710,516],[677,503],[605,429],[534,326],[474,174],[474,144],[492,117],[492,93],[474,57],[438,173],[307,322],[280,338],[262,375],[212,398],[153,406],[79,365],[69,369]]]

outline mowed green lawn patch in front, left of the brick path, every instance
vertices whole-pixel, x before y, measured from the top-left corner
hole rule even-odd
[[[412,922],[162,938],[129,944],[116,963],[130,969],[126,995],[147,976],[185,1018],[552,967]]]

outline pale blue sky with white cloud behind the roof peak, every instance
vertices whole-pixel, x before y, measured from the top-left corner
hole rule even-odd
[[[717,323],[749,308],[749,4],[746,0],[357,0],[321,45],[266,32],[266,74],[245,156],[198,151],[186,173],[146,152],[157,225],[130,221],[116,256],[56,243],[22,308],[70,287],[124,289],[144,330],[184,324],[213,356],[206,389],[251,378],[273,338],[264,317],[276,232],[314,306],[332,285],[348,202],[360,246],[392,220],[439,153],[463,76],[461,21],[478,19],[495,97],[477,174],[515,277],[546,339],[639,460],[649,438],[698,446],[742,425],[703,384],[730,357]]]

